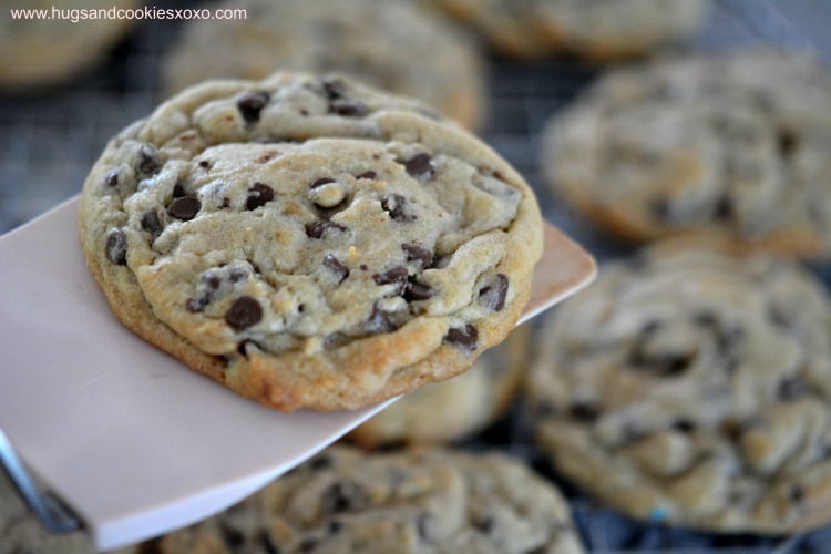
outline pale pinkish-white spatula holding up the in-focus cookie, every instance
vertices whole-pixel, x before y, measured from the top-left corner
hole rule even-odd
[[[113,316],[84,264],[76,211],[70,199],[0,237],[0,429],[7,453],[98,548],[225,510],[389,403],[286,414],[186,370]],[[545,246],[523,320],[595,275],[550,225]]]

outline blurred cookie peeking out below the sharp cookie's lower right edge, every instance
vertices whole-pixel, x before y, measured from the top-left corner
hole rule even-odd
[[[347,438],[365,448],[466,439],[505,413],[525,372],[529,327],[517,327],[464,373],[406,394]]]

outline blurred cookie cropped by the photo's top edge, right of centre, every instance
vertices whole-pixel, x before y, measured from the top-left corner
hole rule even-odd
[[[502,54],[607,61],[693,37],[707,0],[425,0],[466,21]]]

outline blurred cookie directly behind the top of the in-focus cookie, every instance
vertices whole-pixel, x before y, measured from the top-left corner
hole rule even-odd
[[[473,129],[485,114],[478,43],[411,0],[233,0],[245,19],[191,22],[168,53],[168,93],[213,78],[338,72],[421,99]]]

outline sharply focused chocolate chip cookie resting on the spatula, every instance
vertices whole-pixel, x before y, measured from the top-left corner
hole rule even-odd
[[[80,237],[136,334],[279,410],[461,373],[516,324],[534,195],[413,100],[278,73],[189,89],[107,145]]]

